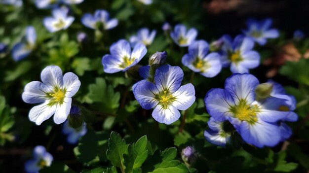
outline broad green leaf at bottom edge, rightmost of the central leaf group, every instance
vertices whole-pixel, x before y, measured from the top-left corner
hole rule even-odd
[[[168,148],[163,152],[156,150],[154,155],[145,162],[143,173],[189,173],[185,164],[175,160],[176,148]]]

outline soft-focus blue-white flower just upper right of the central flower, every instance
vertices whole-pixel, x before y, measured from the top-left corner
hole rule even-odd
[[[205,77],[216,76],[222,68],[218,53],[208,54],[209,46],[204,40],[193,42],[189,53],[184,55],[182,63],[194,72],[200,72]]]

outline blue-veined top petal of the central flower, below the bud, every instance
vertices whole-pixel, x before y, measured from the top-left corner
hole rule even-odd
[[[184,78],[184,72],[180,67],[164,65],[156,69],[154,82],[159,91],[174,93],[178,90]]]

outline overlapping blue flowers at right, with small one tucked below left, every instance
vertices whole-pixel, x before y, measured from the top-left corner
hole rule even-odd
[[[229,141],[228,131],[220,125],[224,121],[229,121],[245,142],[257,147],[275,146],[290,136],[283,132],[290,131],[284,121],[297,120],[294,98],[275,83],[270,96],[257,99],[258,85],[252,74],[235,73],[226,79],[225,89],[207,92],[204,101],[213,118],[208,123],[211,130],[204,134],[207,140],[221,146]]]

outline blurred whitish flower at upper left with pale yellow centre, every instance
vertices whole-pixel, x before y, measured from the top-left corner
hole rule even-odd
[[[57,32],[60,30],[66,30],[71,26],[74,17],[68,16],[69,9],[68,8],[55,8],[52,11],[52,17],[45,17],[43,20],[43,24],[45,28],[51,32]]]

